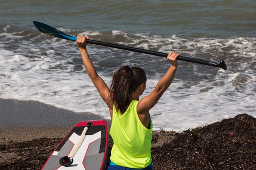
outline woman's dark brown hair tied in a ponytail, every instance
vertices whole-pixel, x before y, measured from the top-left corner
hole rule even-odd
[[[110,92],[117,111],[125,113],[131,102],[131,92],[146,80],[145,71],[139,67],[122,66],[114,73]]]

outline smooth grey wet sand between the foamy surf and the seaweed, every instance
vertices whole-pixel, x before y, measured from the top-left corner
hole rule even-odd
[[[0,142],[63,138],[77,122],[106,120],[90,112],[76,113],[35,100],[0,99]],[[110,127],[111,121],[106,120]]]

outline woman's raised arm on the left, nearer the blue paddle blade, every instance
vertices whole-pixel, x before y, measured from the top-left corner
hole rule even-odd
[[[89,37],[77,36],[77,40],[76,40],[77,46],[79,47],[79,50],[81,53],[82,62],[84,63],[85,70],[89,75],[90,79],[92,80],[94,86],[97,88],[98,92],[100,93],[102,99],[106,102],[109,108],[112,108],[113,104],[109,100],[109,87],[106,85],[104,80],[97,74],[97,71],[93,66],[93,63],[90,60],[90,57],[86,49],[86,45],[87,45],[85,41],[86,39],[89,39]]]

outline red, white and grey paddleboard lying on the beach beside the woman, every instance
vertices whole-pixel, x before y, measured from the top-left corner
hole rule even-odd
[[[107,153],[106,121],[83,121],[69,131],[42,169],[105,169]]]

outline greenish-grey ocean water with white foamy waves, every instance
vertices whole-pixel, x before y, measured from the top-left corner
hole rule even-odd
[[[247,113],[256,116],[256,2],[1,1],[0,97],[38,100],[110,118],[73,41],[43,35],[33,20],[70,35],[226,62],[227,70],[179,61],[175,80],[151,109],[154,129],[183,131]],[[150,94],[166,58],[88,45],[110,84],[122,65],[140,66]],[[143,97],[142,96],[142,97]]]

